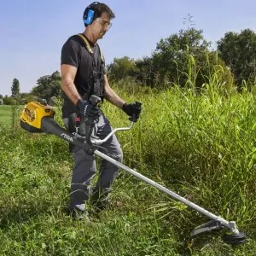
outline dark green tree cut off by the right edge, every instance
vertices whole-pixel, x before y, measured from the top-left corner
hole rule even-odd
[[[256,76],[256,33],[250,29],[226,32],[217,42],[218,51],[226,65],[234,74],[236,83],[253,81]]]

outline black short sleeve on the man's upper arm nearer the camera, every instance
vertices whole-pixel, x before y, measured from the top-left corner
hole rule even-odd
[[[67,64],[79,67],[79,44],[69,38],[61,49],[61,65]]]

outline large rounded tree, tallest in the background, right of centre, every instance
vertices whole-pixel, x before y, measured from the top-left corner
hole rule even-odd
[[[153,63],[160,75],[160,84],[185,86],[188,79],[191,79],[191,68],[202,66],[201,62],[206,59],[205,53],[209,52],[210,45],[203,38],[202,31],[195,28],[180,30],[169,38],[160,39],[153,53]]]

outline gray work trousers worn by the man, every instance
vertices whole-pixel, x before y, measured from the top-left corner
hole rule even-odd
[[[64,125],[68,127],[68,119],[63,119]],[[107,117],[102,113],[99,122],[95,127],[96,137],[105,138],[112,131],[111,125]],[[103,148],[106,148],[108,154],[114,160],[123,161],[123,152],[120,144],[113,134],[107,142],[102,143]],[[101,149],[98,149],[101,151]],[[73,176],[71,181],[70,207],[77,207],[84,210],[84,202],[90,197],[90,182],[92,177],[96,175],[96,160],[94,155],[85,154],[82,148],[73,147]],[[111,190],[111,185],[119,172],[119,167],[114,166],[107,160],[101,160],[99,177],[96,181],[96,186],[92,189],[94,198],[106,197]]]

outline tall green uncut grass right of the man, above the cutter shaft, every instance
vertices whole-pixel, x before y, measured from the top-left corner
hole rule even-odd
[[[192,90],[174,87],[141,101],[142,119],[135,127],[136,136],[130,137],[136,154],[131,150],[130,162],[140,160],[149,167],[146,172],[160,172],[171,183],[189,181],[200,201],[206,186],[202,202],[208,207],[231,218],[237,212],[232,214],[230,207],[236,207],[255,220],[253,94],[223,96],[208,86],[195,96]],[[253,224],[251,218],[248,225]]]

